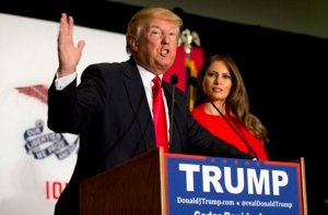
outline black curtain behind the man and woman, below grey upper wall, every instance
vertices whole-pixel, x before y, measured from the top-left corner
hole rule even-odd
[[[130,17],[142,9],[95,0],[3,3],[1,13],[59,23],[60,13],[66,12],[74,17],[75,25],[121,34]],[[250,109],[268,129],[269,159],[291,162],[304,157],[308,213],[326,214],[328,39],[172,10],[184,20],[184,28],[198,33],[204,57],[225,53],[235,60],[249,94]]]

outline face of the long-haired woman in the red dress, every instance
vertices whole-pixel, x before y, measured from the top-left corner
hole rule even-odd
[[[232,84],[231,73],[225,63],[221,60],[212,62],[203,79],[203,89],[208,97],[212,101],[225,101]]]

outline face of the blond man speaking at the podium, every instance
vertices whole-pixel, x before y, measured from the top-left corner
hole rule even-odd
[[[159,17],[150,20],[136,38],[136,60],[152,73],[163,74],[175,60],[177,36],[174,23]]]

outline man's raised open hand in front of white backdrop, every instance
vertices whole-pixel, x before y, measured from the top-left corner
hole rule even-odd
[[[59,77],[72,74],[77,70],[85,46],[84,40],[80,40],[78,47],[74,46],[73,25],[73,17],[62,13],[58,34]]]

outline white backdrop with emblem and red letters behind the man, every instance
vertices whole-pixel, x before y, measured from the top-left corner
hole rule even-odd
[[[77,160],[79,139],[47,128],[47,88],[58,67],[58,23],[0,13],[0,214],[51,215]],[[112,21],[108,21],[112,22]],[[74,27],[78,68],[128,59],[125,35]],[[74,144],[77,142],[77,145]]]

